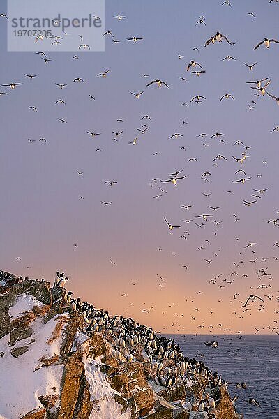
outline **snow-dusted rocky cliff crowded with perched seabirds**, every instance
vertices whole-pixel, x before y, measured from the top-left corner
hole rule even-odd
[[[233,419],[202,362],[61,286],[0,272],[1,419]]]

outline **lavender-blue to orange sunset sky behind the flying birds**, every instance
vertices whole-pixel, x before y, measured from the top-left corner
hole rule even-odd
[[[279,4],[222,3],[107,1],[105,30],[120,42],[108,35],[105,52],[47,52],[47,64],[33,52],[7,52],[0,18],[0,84],[22,83],[1,87],[8,93],[0,96],[1,270],[51,282],[65,272],[75,297],[160,332],[276,333],[279,230],[267,221],[279,218],[279,132],[271,132],[279,107],[246,82],[270,78],[267,91],[279,96],[279,45],[253,50],[279,38]],[[196,24],[201,15],[206,24]],[[216,31],[234,45],[204,47]],[[143,39],[126,40],[133,36]],[[223,60],[228,55],[235,60]],[[186,71],[190,60],[206,73]],[[255,62],[252,71],[243,64]],[[106,78],[96,76],[107,69]],[[77,77],[84,84],[73,83]],[[155,79],[169,89],[146,87]],[[131,94],[140,91],[139,99]],[[220,101],[226,93],[234,100]],[[190,102],[197,95],[206,100]],[[174,133],[183,136],[169,138]],[[213,162],[219,154],[226,160]],[[246,175],[235,174],[240,169]],[[180,170],[186,177],[176,186],[160,182]],[[251,179],[232,182],[242,177]],[[181,227],[169,230],[164,217]],[[245,311],[251,294],[264,302]]]

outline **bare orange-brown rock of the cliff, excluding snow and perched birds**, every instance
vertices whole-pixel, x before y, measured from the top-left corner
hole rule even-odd
[[[157,367],[156,364],[144,360],[144,344],[133,347],[132,362],[128,362],[126,358],[122,359],[121,356],[116,359],[110,333],[105,335],[91,332],[90,337],[77,339],[84,330],[84,316],[77,311],[68,310],[64,288],[50,288],[50,284],[46,282],[19,282],[17,277],[1,271],[0,279],[1,274],[5,274],[6,285],[0,286],[0,339],[8,334],[9,336],[7,350],[0,353],[0,362],[5,362],[6,351],[10,351],[14,358],[19,358],[17,362],[20,368],[20,357],[36,344],[33,322],[41,318],[42,327],[47,328],[47,324],[52,324],[48,322],[53,319],[54,326],[45,345],[59,341],[58,351],[41,355],[35,373],[41,368],[51,369],[56,365],[63,368],[60,387],[52,388],[52,394],[39,395],[41,407],[29,411],[20,419],[89,419],[91,412],[98,412],[100,401],[93,399],[89,380],[86,378],[86,365],[89,361],[96,362],[105,381],[110,384],[112,399],[119,405],[121,414],[126,417],[129,414],[130,419],[189,419],[190,413],[183,409],[183,402],[186,397],[192,395],[202,399],[205,392],[216,399],[216,419],[238,417],[225,386],[206,390],[206,379],[202,376],[199,376],[190,388],[178,383],[169,388],[158,387],[155,395],[147,379],[154,380]],[[17,297],[24,293],[33,295],[38,302],[43,303],[43,307],[35,304],[22,316],[10,318],[10,307],[13,307]],[[102,327],[99,330],[102,331]],[[24,339],[27,340],[20,344]],[[121,355],[128,356],[129,349],[121,348],[121,351]],[[164,362],[165,368],[169,361]],[[191,418],[204,418],[204,414],[197,410],[197,406],[193,406]],[[101,415],[99,419],[107,418]]]

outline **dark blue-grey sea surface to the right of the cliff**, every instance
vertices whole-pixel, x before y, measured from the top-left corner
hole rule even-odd
[[[222,374],[229,382],[232,397],[238,395],[237,413],[245,419],[279,419],[279,336],[278,335],[168,335],[173,337],[189,358],[196,357]],[[218,341],[219,348],[205,346],[205,341]],[[246,383],[247,390],[235,388]],[[254,397],[261,409],[250,406]]]

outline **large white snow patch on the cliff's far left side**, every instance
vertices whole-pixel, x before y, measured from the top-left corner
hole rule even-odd
[[[34,302],[38,303],[32,300],[32,307]],[[17,310],[12,311],[13,316],[17,316],[27,307],[24,304],[21,305],[20,301],[17,304]],[[47,344],[59,316],[60,314],[47,323],[43,323],[42,318],[36,318],[33,321],[31,325],[33,335],[17,342],[17,346],[14,346],[29,344],[29,351],[18,358],[10,354],[11,348],[8,346],[10,334],[0,339],[0,352],[5,353],[3,358],[0,357],[0,419],[21,418],[29,411],[42,407],[38,400],[39,396],[59,395],[63,365],[41,367],[34,371],[40,365],[38,360],[41,357],[59,355],[61,336],[52,344]],[[31,343],[31,339],[35,341]]]

